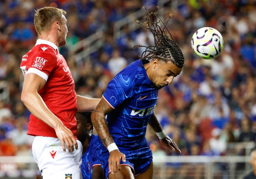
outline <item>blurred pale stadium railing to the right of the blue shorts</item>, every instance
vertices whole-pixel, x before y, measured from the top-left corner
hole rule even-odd
[[[251,168],[249,156],[155,156],[154,178],[239,179]]]

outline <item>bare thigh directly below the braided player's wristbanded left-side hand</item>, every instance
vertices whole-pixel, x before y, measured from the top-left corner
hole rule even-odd
[[[134,179],[134,176],[129,166],[121,165],[121,170],[117,170],[117,173],[109,173],[109,179]]]

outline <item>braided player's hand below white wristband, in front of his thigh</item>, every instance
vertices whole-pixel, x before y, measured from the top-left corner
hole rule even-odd
[[[119,150],[114,150],[109,153],[109,172],[111,174],[117,173],[117,170],[121,170],[120,161],[126,162],[126,155]]]

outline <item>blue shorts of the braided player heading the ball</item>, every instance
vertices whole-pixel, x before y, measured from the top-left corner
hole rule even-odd
[[[100,141],[101,142],[101,141]],[[100,153],[100,162],[105,172],[106,178],[109,176],[109,151],[102,144],[98,145],[98,152]],[[126,162],[121,160],[121,165],[127,165],[131,167],[134,176],[141,174],[147,170],[150,163],[152,162],[152,151],[149,146],[143,147],[141,149],[133,151],[121,151],[121,153],[126,155]]]

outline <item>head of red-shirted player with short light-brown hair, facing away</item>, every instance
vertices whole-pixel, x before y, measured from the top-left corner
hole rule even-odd
[[[37,9],[34,18],[37,34],[40,36],[43,32],[49,32],[55,28],[59,38],[59,46],[65,45],[68,32],[65,16],[66,12],[63,9],[55,7]]]

